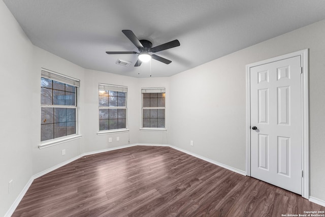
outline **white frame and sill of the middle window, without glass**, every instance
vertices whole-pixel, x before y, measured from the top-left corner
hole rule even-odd
[[[117,92],[125,92],[125,106],[100,106],[100,87],[103,86],[103,88],[106,88],[108,91],[117,91]],[[98,132],[97,135],[106,135],[106,134],[114,134],[114,133],[122,133],[122,132],[128,132],[128,124],[127,124],[127,92],[128,88],[127,86],[121,86],[121,85],[114,85],[114,84],[104,84],[99,83],[98,84]],[[125,109],[125,128],[120,129],[112,129],[112,130],[100,130],[100,109]],[[118,118],[117,118],[118,119]],[[124,119],[124,118],[122,118]]]

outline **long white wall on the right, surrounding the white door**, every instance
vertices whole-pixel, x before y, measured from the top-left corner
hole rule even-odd
[[[245,66],[306,48],[310,190],[312,197],[325,201],[325,20],[171,77],[170,143],[245,171]]]

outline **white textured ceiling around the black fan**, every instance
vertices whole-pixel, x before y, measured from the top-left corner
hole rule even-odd
[[[153,47],[178,39],[179,47],[155,54],[153,77],[171,76],[253,44],[325,19],[323,0],[4,0],[30,41],[83,68],[149,77],[150,63],[134,67],[137,51],[121,32],[130,29]],[[120,58],[133,62],[116,65]],[[139,74],[140,73],[140,74]]]

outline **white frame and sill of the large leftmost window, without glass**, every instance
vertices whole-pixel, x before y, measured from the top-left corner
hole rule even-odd
[[[66,109],[73,108],[73,109],[75,109],[75,113],[76,113],[76,121],[75,121],[76,132],[75,132],[75,134],[71,134],[68,136],[66,135],[66,136],[62,136],[62,137],[58,137],[58,138],[40,141],[40,144],[39,144],[40,149],[49,147],[49,146],[53,146],[53,145],[57,145],[57,144],[61,144],[64,142],[72,141],[72,140],[75,140],[75,139],[78,139],[81,137],[81,135],[79,134],[79,121],[78,121],[79,120],[79,115],[78,115],[78,96],[79,95],[78,94],[79,94],[80,80],[70,77],[70,76],[67,76],[67,75],[57,73],[57,72],[53,72],[51,70],[47,70],[44,68],[41,69],[41,79],[42,78],[46,78],[46,79],[50,79],[52,81],[57,81],[57,82],[60,82],[63,84],[75,86],[75,88],[76,88],[75,93],[74,93],[75,94],[75,105],[55,105],[55,104],[48,105],[48,104],[42,104],[42,101],[41,101],[41,103],[40,103],[40,105],[41,105],[40,117],[42,117],[42,108],[53,108],[53,109],[55,109],[55,108],[66,108]],[[51,89],[53,90],[53,86]],[[66,92],[66,90],[64,90],[64,92]],[[41,95],[42,94],[40,94],[40,96]],[[41,96],[41,99],[42,99],[42,96]],[[53,115],[54,115],[54,113],[53,113]],[[54,116],[53,116],[53,118],[54,118]],[[41,123],[40,127],[42,127],[42,123]],[[41,136],[42,136],[42,131],[40,129],[40,140],[41,140]]]

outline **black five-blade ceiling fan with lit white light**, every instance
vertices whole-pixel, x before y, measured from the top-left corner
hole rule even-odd
[[[136,35],[131,30],[122,30],[122,33],[139,49],[139,52],[135,51],[107,51],[107,54],[138,54],[138,60],[137,63],[134,65],[135,67],[138,67],[142,64],[142,62],[149,61],[151,58],[158,60],[164,64],[170,64],[172,63],[171,60],[165,59],[161,56],[157,56],[155,54],[149,54],[155,53],[162,50],[167,50],[173,47],[180,46],[180,43],[178,40],[174,40],[171,42],[167,42],[165,44],[158,45],[156,47],[152,47],[152,43],[148,40],[139,40]]]

